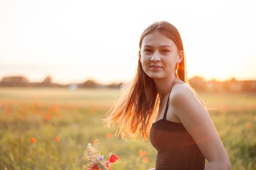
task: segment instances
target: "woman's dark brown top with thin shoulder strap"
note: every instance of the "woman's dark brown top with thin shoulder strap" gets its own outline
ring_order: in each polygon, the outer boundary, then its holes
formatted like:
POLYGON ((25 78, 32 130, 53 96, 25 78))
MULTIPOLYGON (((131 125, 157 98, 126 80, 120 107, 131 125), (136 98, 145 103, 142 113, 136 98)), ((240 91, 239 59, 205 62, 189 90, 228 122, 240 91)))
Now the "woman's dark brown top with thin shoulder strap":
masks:
MULTIPOLYGON (((170 96, 171 91, 169 92, 170 96)), ((206 158, 182 123, 166 120, 169 96, 164 118, 152 124, 149 138, 157 150, 156 170, 201 170, 206 158)))

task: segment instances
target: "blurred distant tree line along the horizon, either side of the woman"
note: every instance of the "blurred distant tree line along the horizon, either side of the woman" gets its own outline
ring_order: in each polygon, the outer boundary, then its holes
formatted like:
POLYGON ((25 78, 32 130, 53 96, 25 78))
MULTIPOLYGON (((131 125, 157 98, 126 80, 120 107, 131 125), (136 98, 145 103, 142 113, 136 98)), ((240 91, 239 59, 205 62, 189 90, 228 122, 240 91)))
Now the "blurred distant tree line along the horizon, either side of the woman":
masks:
MULTIPOLYGON (((247 81, 238 81, 235 78, 232 78, 228 81, 216 81, 210 80, 205 81, 202 77, 193 77, 189 79, 189 84, 196 91, 246 91, 246 92, 256 92, 256 80, 247 80, 247 81)), ((17 76, 17 77, 3 77, 0 81, 0 87, 68 87, 70 89, 77 88, 116 88, 120 89, 123 83, 113 83, 102 85, 97 83, 94 80, 87 80, 80 84, 55 84, 52 82, 51 77, 46 77, 41 82, 29 82, 26 77, 17 76)))

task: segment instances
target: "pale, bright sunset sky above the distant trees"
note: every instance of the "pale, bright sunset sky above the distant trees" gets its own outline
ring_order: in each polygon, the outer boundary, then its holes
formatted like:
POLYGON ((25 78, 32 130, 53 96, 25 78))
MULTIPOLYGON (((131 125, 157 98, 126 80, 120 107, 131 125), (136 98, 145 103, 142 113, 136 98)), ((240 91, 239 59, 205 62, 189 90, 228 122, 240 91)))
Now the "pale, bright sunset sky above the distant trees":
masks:
POLYGON ((0 0, 0 79, 131 81, 155 21, 179 30, 188 78, 256 79, 256 1, 0 0))

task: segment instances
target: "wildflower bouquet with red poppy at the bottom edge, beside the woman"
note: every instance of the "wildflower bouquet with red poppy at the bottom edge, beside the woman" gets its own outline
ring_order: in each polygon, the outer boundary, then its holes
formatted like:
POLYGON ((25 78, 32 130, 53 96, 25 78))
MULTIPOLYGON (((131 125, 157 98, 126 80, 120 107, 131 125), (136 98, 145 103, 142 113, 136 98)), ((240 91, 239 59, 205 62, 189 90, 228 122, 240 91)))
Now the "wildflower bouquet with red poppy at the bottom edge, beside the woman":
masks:
POLYGON ((110 164, 116 162, 119 158, 115 154, 110 154, 107 162, 103 159, 104 155, 97 151, 97 146, 99 145, 98 140, 94 140, 92 144, 87 144, 87 149, 83 159, 90 161, 90 164, 83 165, 82 170, 111 170, 110 164), (88 168, 89 167, 89 168, 88 168))

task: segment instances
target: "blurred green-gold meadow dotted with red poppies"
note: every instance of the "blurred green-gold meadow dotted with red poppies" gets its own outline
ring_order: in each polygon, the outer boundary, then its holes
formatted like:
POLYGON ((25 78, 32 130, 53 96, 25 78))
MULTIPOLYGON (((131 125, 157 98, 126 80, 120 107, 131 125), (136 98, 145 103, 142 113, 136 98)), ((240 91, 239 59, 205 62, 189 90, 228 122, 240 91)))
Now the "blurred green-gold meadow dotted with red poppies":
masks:
MULTIPOLYGON (((1 88, 0 169, 82 169, 88 142, 119 160, 114 170, 154 167, 150 142, 122 140, 102 123, 114 89, 1 88), (31 137, 36 141, 31 142, 31 137)), ((256 94, 199 93, 233 169, 256 169, 256 94)))

